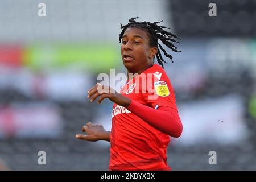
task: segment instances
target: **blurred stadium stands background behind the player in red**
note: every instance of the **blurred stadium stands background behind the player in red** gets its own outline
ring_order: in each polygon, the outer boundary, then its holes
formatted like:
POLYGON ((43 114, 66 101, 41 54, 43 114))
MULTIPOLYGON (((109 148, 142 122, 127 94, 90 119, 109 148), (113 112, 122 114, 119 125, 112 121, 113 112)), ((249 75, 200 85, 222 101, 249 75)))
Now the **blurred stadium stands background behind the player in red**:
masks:
POLYGON ((89 121, 110 130, 112 103, 89 104, 86 92, 98 73, 125 73, 119 26, 134 16, 164 19, 182 39, 182 53, 171 52, 175 63, 166 65, 184 125, 171 139, 168 164, 256 169, 255 0, 1 1, 0 166, 108 170, 109 143, 75 134, 89 121), (40 2, 46 17, 38 16, 40 2), (211 2, 217 17, 208 16, 211 2), (209 151, 217 152, 217 165, 208 163, 209 151))

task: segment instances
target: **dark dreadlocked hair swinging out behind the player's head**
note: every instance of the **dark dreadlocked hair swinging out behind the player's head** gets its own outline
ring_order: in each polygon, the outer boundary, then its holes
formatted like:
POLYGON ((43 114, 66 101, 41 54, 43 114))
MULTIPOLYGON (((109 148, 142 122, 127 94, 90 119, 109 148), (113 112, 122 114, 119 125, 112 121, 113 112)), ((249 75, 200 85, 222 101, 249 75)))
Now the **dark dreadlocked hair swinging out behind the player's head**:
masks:
MULTIPOLYGON (((167 63, 166 61, 164 61, 160 50, 164 53, 166 57, 171 59, 172 63, 174 63, 174 61, 172 60, 172 56, 169 55, 166 52, 166 50, 162 47, 162 45, 158 43, 158 40, 161 40, 161 42, 164 45, 166 45, 168 48, 172 49, 172 51, 181 52, 177 50, 177 47, 174 46, 174 44, 172 44, 172 42, 180 43, 180 42, 177 42, 177 40, 175 40, 175 38, 176 39, 180 39, 180 38, 175 34, 172 34, 171 32, 164 30, 164 28, 167 28, 167 27, 158 26, 158 23, 163 22, 163 20, 160 22, 154 22, 154 23, 136 22, 134 19, 137 19, 137 18, 139 17, 129 19, 129 23, 124 26, 122 26, 122 23, 121 23, 122 32, 121 34, 119 34, 119 42, 121 43, 123 34, 125 33, 127 28, 130 28, 130 27, 143 28, 144 30, 146 30, 148 34, 150 47, 158 48, 158 52, 156 53, 156 59, 158 60, 158 63, 162 65, 162 67, 163 67, 163 63, 167 63)), ((170 28, 167 28, 167 29, 170 29, 170 28)), ((154 60, 155 60, 155 57, 154 57, 154 60)))

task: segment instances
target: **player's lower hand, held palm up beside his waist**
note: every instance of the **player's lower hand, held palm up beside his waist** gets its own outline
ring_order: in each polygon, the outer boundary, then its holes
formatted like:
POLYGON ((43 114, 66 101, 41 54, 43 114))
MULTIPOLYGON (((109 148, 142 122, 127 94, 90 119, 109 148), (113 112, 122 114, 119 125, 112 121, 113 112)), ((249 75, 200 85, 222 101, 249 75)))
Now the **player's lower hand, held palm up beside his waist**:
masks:
POLYGON ((110 132, 106 131, 102 125, 88 122, 85 126, 82 126, 82 132, 86 132, 87 135, 76 135, 77 139, 90 142, 96 142, 98 140, 110 141, 110 132))

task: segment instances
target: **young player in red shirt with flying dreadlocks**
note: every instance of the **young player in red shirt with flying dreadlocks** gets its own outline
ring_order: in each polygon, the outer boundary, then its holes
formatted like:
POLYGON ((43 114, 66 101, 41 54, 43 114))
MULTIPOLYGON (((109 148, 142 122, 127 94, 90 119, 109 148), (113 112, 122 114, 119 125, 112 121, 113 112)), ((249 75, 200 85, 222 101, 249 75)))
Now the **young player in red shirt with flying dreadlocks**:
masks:
POLYGON ((161 49, 172 59, 158 40, 177 52, 171 43, 176 42, 177 36, 158 26, 159 22, 134 19, 126 26, 121 24, 119 41, 122 40, 121 54, 127 73, 137 75, 127 80, 121 93, 98 83, 88 91, 91 102, 97 97, 100 97, 98 104, 105 98, 114 102, 112 130, 105 131, 101 125, 89 122, 82 127, 87 135, 76 135, 76 138, 110 141, 110 170, 170 170, 169 136, 180 137, 183 126, 171 82, 164 69, 154 64, 154 58, 163 66, 161 49))

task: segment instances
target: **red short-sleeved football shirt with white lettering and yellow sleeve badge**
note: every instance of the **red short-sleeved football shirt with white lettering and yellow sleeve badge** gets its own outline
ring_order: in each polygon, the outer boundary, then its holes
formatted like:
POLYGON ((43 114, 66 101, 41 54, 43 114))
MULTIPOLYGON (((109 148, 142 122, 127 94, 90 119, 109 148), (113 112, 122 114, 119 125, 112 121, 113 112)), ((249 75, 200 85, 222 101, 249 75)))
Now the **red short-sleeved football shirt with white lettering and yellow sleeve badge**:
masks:
MULTIPOLYGON (((130 80, 121 94, 148 107, 177 110, 171 82, 157 64, 130 80)), ((110 170, 170 170, 167 164, 169 142, 169 135, 148 125, 125 107, 114 104, 110 170)))

